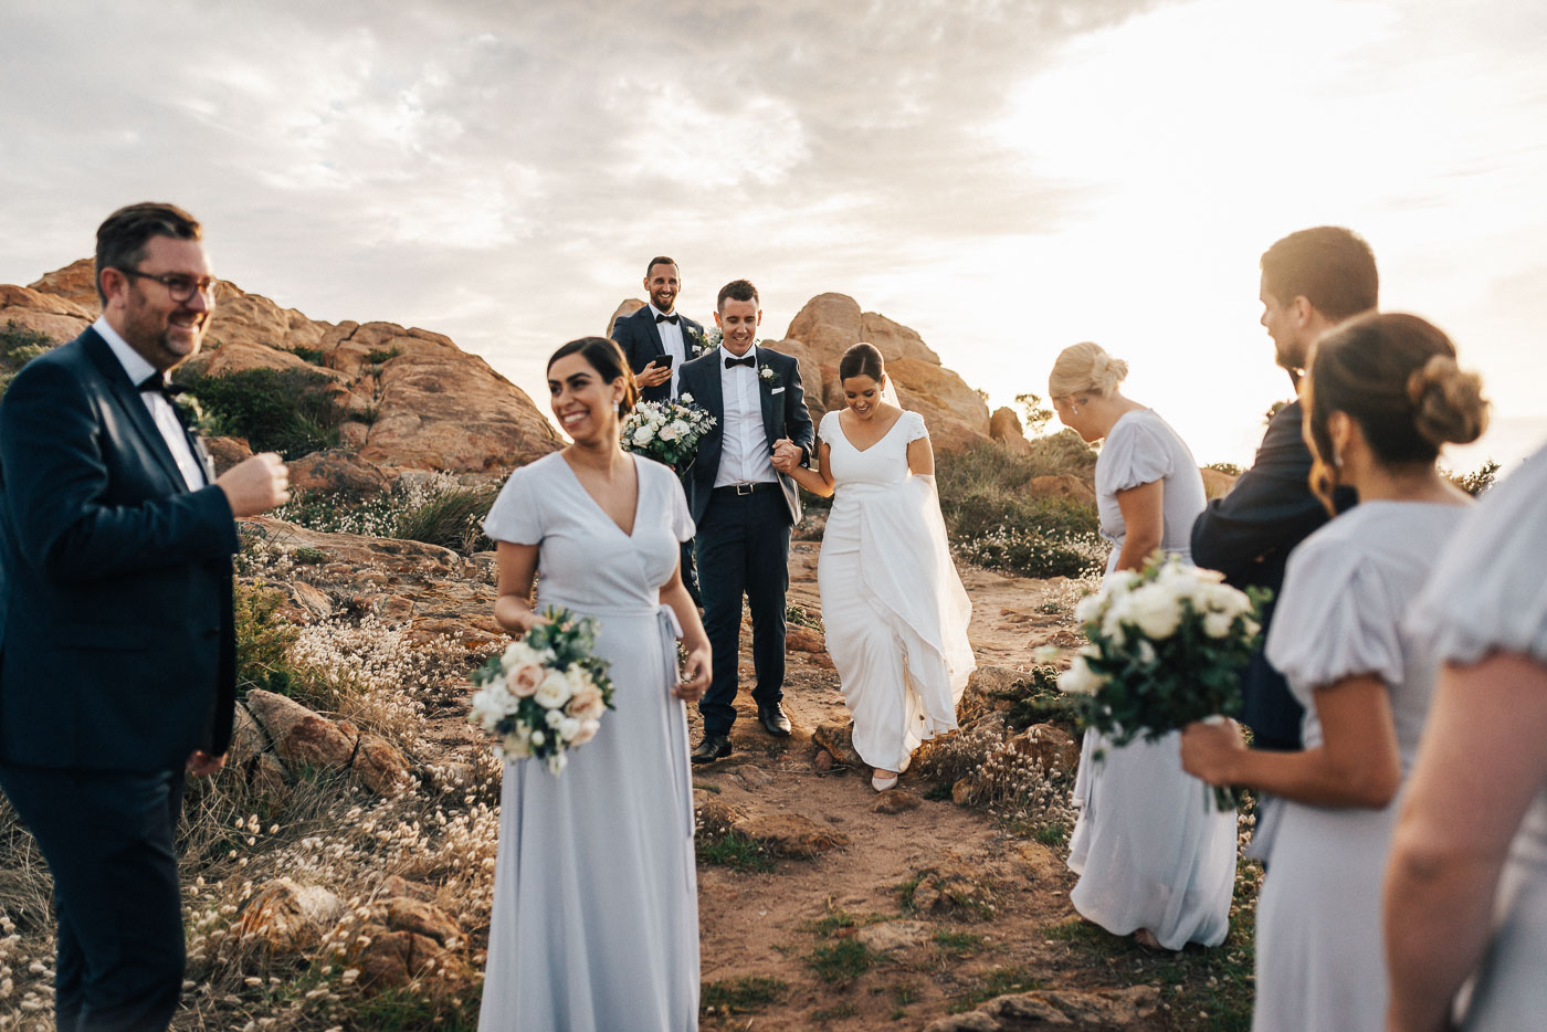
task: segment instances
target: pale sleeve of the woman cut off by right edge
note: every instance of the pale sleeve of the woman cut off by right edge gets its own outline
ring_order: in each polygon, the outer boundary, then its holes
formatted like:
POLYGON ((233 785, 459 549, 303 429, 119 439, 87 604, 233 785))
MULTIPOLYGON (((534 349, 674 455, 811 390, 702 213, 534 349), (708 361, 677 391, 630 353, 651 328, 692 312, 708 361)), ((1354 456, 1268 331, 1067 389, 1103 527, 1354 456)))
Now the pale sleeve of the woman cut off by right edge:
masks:
POLYGON ((1491 651, 1547 664, 1547 447, 1468 512, 1408 611, 1411 634, 1442 661, 1491 651))

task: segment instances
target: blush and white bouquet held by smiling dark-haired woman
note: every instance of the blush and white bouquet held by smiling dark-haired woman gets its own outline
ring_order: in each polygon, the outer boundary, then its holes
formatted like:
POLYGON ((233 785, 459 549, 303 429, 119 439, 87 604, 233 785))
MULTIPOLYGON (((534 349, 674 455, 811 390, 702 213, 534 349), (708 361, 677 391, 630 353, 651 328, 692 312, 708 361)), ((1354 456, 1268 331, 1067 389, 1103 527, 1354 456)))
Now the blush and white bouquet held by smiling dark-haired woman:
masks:
POLYGON ((478 692, 467 719, 498 741, 504 760, 537 757, 560 774, 568 750, 583 746, 613 709, 608 662, 596 654, 596 620, 549 607, 538 624, 473 673, 478 692))

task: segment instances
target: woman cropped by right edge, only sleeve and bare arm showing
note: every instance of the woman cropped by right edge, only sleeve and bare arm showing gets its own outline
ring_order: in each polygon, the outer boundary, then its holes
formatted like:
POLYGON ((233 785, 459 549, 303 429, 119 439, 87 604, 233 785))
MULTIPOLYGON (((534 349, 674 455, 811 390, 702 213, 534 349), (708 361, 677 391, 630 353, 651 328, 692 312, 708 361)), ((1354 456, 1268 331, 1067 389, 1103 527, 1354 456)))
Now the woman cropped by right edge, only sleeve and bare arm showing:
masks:
POLYGON ((1386 868, 1391 1029, 1547 1023, 1547 447, 1457 529, 1408 633, 1445 664, 1386 868))

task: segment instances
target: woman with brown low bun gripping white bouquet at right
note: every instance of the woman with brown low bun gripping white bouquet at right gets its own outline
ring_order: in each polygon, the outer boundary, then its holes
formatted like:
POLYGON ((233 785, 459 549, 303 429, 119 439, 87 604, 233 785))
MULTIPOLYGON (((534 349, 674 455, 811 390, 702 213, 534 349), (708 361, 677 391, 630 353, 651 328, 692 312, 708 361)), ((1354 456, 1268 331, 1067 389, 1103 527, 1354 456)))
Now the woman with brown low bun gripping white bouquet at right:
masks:
POLYGON ((1318 497, 1358 492, 1289 555, 1267 658, 1306 707, 1304 749, 1247 750, 1193 724, 1182 763, 1281 800, 1258 900, 1255 1032, 1381 1032, 1380 885, 1398 795, 1434 687, 1433 639, 1402 619, 1467 514, 1436 467, 1482 433, 1476 376, 1403 314, 1355 317, 1315 345, 1303 385, 1318 497))

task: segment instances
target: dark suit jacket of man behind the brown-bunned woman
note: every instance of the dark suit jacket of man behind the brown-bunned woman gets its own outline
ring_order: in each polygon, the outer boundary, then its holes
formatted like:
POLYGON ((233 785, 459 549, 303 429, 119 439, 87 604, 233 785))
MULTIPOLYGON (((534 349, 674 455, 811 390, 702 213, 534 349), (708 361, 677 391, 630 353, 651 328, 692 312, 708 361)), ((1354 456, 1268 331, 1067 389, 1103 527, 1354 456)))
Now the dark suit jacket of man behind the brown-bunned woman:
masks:
MULTIPOLYGON (((1310 449, 1301 436, 1301 404, 1284 405, 1269 422, 1252 469, 1241 473, 1224 498, 1214 498, 1193 523, 1193 562, 1225 574, 1236 588, 1270 588, 1275 599, 1262 616, 1262 641, 1273 617, 1273 602, 1284 586, 1289 552, 1327 521, 1327 511, 1310 494, 1310 449)), ((1354 503, 1352 492, 1335 498, 1340 509, 1354 503)), ((1267 749, 1299 749, 1304 707, 1289 692, 1284 675, 1273 668, 1262 647, 1252 656, 1241 682, 1245 696, 1242 719, 1256 744, 1267 749)))

